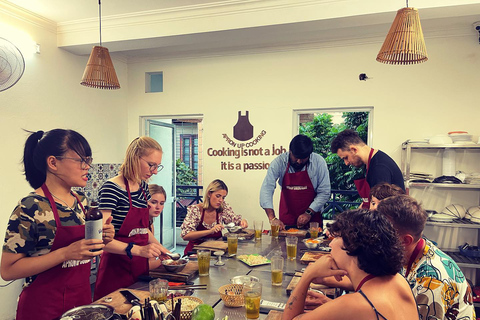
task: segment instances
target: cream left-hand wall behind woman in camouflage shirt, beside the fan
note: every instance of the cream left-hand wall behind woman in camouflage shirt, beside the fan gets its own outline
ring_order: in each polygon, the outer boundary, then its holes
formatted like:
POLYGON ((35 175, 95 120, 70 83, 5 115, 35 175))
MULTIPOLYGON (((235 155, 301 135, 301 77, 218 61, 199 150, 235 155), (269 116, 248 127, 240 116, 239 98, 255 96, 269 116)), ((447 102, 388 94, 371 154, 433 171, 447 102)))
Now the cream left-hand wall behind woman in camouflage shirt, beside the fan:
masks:
MULTIPOLYGON (((121 162, 127 145, 127 66, 114 61, 121 90, 107 91, 80 85, 88 57, 72 55, 56 46, 47 23, 35 26, 0 12, 0 36, 15 42, 7 27, 28 33, 41 45, 41 54, 25 56, 20 81, 0 92, 0 232, 22 196, 31 191, 20 165, 27 137, 22 129, 69 128, 89 141, 96 162, 121 162), (3 25, 5 24, 5 25, 3 25)), ((0 284, 5 284, 0 280, 0 284)), ((0 288, 0 319, 13 319, 22 281, 0 288)))

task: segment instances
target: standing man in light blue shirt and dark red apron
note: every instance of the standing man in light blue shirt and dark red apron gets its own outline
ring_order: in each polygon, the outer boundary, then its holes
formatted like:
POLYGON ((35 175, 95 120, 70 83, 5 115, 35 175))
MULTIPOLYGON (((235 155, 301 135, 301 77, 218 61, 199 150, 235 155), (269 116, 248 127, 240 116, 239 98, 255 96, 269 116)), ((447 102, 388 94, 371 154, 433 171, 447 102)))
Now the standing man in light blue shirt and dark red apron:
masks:
POLYGON ((295 136, 290 142, 289 152, 275 158, 268 168, 260 190, 260 206, 270 223, 277 219, 272 200, 277 181, 282 187, 280 228, 308 228, 309 222, 319 222, 322 227, 321 211, 330 198, 330 177, 325 160, 313 153, 310 138, 295 136))

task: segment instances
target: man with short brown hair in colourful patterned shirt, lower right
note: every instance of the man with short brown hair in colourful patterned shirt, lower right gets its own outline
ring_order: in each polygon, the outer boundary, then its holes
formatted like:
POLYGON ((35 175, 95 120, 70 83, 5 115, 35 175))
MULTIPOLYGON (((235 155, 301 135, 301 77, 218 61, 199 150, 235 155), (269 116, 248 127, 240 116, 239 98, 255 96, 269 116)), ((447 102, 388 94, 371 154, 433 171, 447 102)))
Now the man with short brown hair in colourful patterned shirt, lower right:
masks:
POLYGON ((421 319, 475 320, 472 289, 458 265, 423 237, 427 214, 412 197, 382 200, 380 214, 393 223, 405 246, 401 274, 412 288, 421 319))

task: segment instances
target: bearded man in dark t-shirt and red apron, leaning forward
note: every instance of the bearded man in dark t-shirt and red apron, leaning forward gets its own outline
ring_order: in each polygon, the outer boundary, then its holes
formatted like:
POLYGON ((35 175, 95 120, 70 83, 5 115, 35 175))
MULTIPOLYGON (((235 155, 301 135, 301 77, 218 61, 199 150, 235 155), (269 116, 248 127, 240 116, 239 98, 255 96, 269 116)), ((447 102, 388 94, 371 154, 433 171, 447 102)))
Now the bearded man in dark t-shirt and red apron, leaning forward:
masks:
POLYGON ((366 166, 365 178, 354 180, 358 194, 362 198, 362 208, 370 208, 370 188, 379 183, 395 184, 405 190, 403 174, 395 161, 386 153, 367 146, 356 131, 347 129, 340 132, 332 141, 331 151, 347 166, 356 168, 366 166))

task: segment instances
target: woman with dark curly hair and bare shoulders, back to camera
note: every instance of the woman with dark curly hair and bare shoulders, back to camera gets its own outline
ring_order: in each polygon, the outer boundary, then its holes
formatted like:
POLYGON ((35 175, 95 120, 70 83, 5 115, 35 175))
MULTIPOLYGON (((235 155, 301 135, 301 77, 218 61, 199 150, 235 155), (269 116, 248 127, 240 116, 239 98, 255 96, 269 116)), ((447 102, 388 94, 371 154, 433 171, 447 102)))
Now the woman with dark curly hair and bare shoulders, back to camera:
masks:
POLYGON ((305 270, 288 299, 283 319, 418 319, 417 305, 402 267, 403 248, 387 218, 368 210, 338 215, 330 225, 335 237, 331 254, 305 270), (315 278, 346 276, 355 292, 303 313, 310 283, 315 278))

